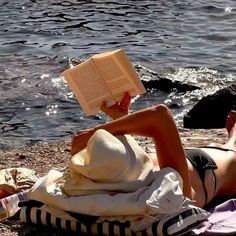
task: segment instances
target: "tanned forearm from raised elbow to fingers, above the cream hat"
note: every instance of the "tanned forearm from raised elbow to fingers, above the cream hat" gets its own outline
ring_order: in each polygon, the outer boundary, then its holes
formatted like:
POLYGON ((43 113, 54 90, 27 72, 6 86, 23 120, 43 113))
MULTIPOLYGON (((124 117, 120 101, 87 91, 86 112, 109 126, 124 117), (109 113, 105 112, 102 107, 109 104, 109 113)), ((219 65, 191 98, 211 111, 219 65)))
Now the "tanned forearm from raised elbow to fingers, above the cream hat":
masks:
MULTIPOLYGON (((131 134, 152 137, 154 139, 158 137, 162 139, 162 136, 165 136, 165 132, 174 131, 175 135, 178 135, 175 122, 168 108, 158 105, 133 112, 108 123, 98 125, 95 128, 80 131, 74 137, 72 145, 75 147, 77 143, 80 145, 83 141, 85 147, 88 139, 98 129, 105 129, 113 135, 131 134)), ((80 148, 82 146, 80 145, 80 148)))

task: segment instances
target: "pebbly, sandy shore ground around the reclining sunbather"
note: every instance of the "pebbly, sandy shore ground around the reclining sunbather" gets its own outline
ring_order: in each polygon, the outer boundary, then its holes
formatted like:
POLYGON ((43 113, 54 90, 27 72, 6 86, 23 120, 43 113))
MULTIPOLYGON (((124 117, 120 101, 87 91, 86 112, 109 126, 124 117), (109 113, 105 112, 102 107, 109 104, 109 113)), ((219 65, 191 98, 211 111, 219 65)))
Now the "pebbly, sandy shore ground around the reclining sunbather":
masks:
MULTIPOLYGON (((189 130, 181 129, 184 146, 201 146, 209 143, 222 144, 227 140, 225 129, 189 130)), ((149 139, 137 137, 143 147, 154 149, 149 139)), ((45 175, 52 167, 65 167, 70 158, 70 142, 39 143, 11 151, 0 151, 0 168, 27 167, 36 171, 38 176, 45 175)), ((16 220, 0 222, 1 236, 56 236, 65 232, 49 230, 45 227, 28 225, 16 220)), ((70 234, 71 235, 71 234, 70 234)))

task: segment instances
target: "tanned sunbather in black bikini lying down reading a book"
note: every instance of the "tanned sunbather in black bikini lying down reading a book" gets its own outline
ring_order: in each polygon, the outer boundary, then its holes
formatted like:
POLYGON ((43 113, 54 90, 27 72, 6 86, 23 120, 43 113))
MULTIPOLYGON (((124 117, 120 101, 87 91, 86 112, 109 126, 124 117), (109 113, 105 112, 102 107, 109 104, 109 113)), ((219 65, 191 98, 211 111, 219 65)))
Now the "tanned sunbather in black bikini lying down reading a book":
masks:
POLYGON ((233 197, 236 194, 236 112, 227 118, 229 140, 221 146, 204 146, 184 149, 171 111, 157 105, 129 114, 131 98, 128 94, 120 103, 102 111, 113 121, 79 131, 72 141, 71 154, 84 149, 91 136, 99 129, 113 135, 140 135, 151 137, 156 153, 148 155, 155 168, 171 167, 183 179, 183 194, 194 205, 205 207, 216 197, 233 197))

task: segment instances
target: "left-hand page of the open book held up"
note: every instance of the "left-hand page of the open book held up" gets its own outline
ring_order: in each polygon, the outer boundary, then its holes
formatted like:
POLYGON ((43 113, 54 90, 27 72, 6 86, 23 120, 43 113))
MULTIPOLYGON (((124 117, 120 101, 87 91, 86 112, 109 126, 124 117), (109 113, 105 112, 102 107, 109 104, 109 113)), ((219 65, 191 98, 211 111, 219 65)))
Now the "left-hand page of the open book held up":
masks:
POLYGON ((86 115, 98 112, 103 101, 109 105, 114 104, 106 83, 91 59, 66 70, 63 76, 86 115))

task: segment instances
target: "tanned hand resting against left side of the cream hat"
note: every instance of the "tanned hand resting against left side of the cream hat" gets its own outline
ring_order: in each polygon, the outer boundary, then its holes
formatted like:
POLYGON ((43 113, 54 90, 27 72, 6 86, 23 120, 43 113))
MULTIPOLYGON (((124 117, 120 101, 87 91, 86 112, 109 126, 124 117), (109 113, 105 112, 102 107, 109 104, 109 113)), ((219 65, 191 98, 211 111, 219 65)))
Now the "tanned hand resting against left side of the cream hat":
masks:
POLYGON ((93 135, 93 133, 93 129, 79 131, 72 139, 70 154, 74 155, 84 149, 87 146, 87 142, 93 135))

